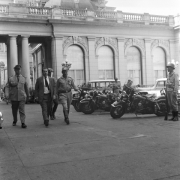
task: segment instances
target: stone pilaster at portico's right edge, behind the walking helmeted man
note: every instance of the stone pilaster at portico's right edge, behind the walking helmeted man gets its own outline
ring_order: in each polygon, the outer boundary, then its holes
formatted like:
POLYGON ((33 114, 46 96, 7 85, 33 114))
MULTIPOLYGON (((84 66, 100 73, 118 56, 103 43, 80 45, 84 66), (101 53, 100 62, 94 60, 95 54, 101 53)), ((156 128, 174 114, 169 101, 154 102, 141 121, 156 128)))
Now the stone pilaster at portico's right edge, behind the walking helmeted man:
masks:
POLYGON ((52 37, 51 40, 51 55, 52 55, 52 68, 54 70, 54 77, 61 77, 63 59, 63 37, 52 37))

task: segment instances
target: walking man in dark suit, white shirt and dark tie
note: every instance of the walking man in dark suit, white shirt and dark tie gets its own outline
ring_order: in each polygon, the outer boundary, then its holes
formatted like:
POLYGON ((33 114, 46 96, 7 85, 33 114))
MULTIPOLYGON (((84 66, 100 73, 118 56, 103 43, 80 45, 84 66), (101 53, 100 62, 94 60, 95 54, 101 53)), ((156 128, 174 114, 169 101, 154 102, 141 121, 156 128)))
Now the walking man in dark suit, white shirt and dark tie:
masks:
POLYGON ((43 76, 36 80, 35 97, 38 99, 46 127, 49 125, 49 116, 52 101, 56 98, 56 83, 54 78, 48 77, 48 69, 43 69, 43 76))

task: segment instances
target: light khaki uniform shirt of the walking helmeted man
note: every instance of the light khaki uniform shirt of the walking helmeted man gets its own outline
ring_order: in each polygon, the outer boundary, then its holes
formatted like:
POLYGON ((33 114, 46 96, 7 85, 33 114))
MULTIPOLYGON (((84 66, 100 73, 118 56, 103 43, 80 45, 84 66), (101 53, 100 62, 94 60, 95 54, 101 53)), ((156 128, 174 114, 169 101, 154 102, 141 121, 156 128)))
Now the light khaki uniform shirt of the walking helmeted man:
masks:
POLYGON ((74 80, 71 77, 64 78, 63 76, 61 76, 57 80, 57 93, 59 93, 60 91, 69 92, 71 91, 71 89, 77 89, 74 84, 74 80))

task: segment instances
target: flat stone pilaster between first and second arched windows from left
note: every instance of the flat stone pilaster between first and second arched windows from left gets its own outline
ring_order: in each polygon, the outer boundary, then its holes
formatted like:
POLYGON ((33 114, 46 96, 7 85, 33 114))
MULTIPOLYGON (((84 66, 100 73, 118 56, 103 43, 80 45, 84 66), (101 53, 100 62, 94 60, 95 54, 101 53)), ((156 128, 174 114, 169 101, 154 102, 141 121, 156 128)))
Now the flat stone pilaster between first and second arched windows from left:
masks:
POLYGON ((89 80, 99 79, 98 77, 98 57, 95 53, 95 37, 88 37, 89 47, 89 80))

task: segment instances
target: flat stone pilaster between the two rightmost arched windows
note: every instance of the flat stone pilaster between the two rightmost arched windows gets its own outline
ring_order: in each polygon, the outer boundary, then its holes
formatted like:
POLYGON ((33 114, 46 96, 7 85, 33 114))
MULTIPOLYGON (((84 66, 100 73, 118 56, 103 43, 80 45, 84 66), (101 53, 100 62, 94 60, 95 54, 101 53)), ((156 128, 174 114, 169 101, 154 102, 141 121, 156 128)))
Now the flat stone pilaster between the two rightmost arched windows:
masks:
POLYGON ((153 72, 153 61, 151 59, 151 39, 145 39, 145 50, 146 50, 146 80, 143 81, 146 82, 146 85, 152 85, 154 84, 154 72, 153 72))

